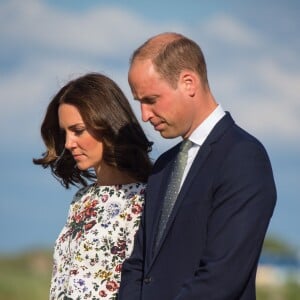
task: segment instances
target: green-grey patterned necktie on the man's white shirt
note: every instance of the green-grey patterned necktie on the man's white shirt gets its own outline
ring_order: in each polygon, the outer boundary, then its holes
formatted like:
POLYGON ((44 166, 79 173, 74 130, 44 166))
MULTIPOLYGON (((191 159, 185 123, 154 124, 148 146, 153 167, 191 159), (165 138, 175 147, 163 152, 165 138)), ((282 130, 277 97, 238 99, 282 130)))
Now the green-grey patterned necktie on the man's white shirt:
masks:
POLYGON ((187 163, 188 151, 192 147, 193 142, 186 139, 180 145, 180 150, 173 164, 173 170, 170 175, 169 183, 164 197, 163 208, 159 220, 158 232, 156 237, 156 247, 163 235, 168 219, 171 215, 173 206, 176 202, 182 176, 187 163))

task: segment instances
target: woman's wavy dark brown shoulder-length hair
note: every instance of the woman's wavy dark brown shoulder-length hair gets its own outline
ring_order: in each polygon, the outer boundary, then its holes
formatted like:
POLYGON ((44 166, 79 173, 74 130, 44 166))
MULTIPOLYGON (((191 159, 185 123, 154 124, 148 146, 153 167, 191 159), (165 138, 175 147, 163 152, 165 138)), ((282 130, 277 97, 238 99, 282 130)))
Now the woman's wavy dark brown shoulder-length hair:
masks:
POLYGON ((86 186, 96 178, 92 170, 79 170, 71 153, 65 149, 58 108, 62 103, 74 105, 89 133, 103 142, 103 160, 126 172, 137 181, 146 182, 151 171, 150 142, 140 126, 126 96, 110 78, 89 73, 67 83, 49 103, 41 126, 46 151, 33 163, 50 167, 65 188, 70 184, 86 186))

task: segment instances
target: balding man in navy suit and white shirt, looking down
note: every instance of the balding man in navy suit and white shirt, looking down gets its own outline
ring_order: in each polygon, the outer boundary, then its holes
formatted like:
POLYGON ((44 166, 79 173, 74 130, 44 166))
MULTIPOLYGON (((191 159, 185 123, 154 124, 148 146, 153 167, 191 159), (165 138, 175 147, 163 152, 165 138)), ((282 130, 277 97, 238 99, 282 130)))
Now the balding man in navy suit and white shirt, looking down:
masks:
POLYGON ((143 121, 192 147, 167 213, 180 145, 154 165, 118 299, 255 299, 258 259, 276 202, 263 145, 215 101, 200 47, 180 34, 159 34, 139 47, 129 84, 143 121))

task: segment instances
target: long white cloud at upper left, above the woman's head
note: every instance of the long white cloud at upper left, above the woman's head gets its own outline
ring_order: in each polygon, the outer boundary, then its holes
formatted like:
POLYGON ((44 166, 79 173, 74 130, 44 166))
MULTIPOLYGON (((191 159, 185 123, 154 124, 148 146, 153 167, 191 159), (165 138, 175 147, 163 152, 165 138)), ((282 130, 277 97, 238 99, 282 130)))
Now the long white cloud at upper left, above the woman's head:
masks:
POLYGON ((2 38, 23 43, 25 49, 37 47, 40 51, 59 54, 68 51, 115 57, 124 51, 131 52, 131 44, 136 39, 160 28, 113 6, 99 5, 84 12, 65 12, 38 0, 12 0, 0 8, 2 38))

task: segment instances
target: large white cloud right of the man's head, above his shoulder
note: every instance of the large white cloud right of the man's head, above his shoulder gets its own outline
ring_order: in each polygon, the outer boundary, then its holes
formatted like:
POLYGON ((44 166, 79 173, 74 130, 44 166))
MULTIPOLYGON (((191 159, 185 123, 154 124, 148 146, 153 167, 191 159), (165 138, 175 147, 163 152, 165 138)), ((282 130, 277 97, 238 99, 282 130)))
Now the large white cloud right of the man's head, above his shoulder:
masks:
POLYGON ((263 58, 220 71, 213 82, 217 101, 243 127, 278 142, 300 141, 300 73, 263 58))

